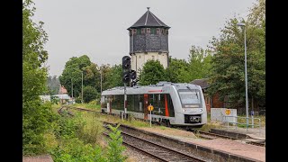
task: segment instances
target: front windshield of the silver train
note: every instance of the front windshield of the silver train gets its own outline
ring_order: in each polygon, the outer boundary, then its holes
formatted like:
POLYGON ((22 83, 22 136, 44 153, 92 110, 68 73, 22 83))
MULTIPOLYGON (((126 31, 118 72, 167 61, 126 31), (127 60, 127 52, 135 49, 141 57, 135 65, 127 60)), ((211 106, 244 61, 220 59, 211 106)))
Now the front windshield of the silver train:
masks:
POLYGON ((179 90, 183 107, 201 107, 201 96, 198 90, 179 90))

